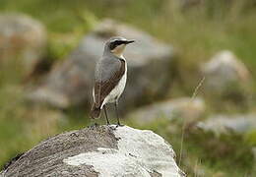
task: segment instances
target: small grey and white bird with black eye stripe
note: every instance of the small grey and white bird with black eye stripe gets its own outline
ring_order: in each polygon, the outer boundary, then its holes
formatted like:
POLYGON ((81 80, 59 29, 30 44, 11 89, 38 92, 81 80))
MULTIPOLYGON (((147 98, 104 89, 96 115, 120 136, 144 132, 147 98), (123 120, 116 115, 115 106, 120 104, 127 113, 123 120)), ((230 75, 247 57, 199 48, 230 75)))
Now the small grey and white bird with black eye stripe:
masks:
POLYGON ((91 108, 91 117, 96 119, 104 109, 106 124, 110 125, 106 104, 114 103, 117 117, 117 126, 121 126, 118 114, 118 99, 125 89, 127 79, 127 63, 123 56, 127 44, 135 40, 128 40, 122 36, 109 38, 103 49, 103 54, 96 62, 95 85, 93 88, 94 103, 91 108))

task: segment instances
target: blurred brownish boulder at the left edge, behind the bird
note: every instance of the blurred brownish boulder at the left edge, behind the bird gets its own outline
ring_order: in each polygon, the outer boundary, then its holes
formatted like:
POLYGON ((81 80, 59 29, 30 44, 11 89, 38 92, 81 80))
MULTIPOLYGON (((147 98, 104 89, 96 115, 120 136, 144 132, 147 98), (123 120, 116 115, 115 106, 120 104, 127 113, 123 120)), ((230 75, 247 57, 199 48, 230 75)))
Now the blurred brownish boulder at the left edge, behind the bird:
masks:
POLYGON ((0 65, 17 60, 28 75, 41 58, 46 45, 42 24, 25 15, 0 15, 0 65))

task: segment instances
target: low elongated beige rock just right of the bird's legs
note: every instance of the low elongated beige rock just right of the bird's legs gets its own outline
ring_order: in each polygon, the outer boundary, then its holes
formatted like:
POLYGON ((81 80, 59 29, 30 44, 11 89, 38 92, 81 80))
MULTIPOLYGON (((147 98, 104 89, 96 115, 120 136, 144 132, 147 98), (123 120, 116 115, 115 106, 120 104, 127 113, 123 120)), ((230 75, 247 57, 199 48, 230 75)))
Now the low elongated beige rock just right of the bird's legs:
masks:
POLYGON ((200 118, 205 110, 206 105, 202 98, 180 97, 144 106, 127 117, 139 125, 150 124, 161 117, 168 120, 184 118, 189 123, 200 118))

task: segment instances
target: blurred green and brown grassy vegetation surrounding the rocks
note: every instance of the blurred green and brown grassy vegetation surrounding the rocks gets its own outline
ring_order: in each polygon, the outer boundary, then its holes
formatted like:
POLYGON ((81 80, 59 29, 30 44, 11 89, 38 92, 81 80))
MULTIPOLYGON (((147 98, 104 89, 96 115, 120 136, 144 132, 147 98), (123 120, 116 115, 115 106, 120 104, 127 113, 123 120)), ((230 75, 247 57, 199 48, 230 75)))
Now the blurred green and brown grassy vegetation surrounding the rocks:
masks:
MULTIPOLYGON (((202 79, 200 65, 217 52, 230 50, 250 73, 250 95, 246 103, 239 99, 232 102, 226 101, 226 97, 215 99, 199 89, 198 96, 204 96, 207 105, 201 120, 212 114, 247 114, 256 110, 255 0, 1 0, 0 12, 26 14, 45 26, 44 72, 65 58, 104 18, 149 32, 177 51, 179 79, 168 98, 192 96, 202 79)), ((24 98, 25 84, 19 62, 1 65, 0 166, 45 138, 91 124, 83 105, 56 113, 47 105, 28 102, 24 98)), ((177 162, 188 176, 256 175, 252 150, 256 146, 255 127, 239 136, 216 136, 195 134, 190 129, 194 122, 183 129, 182 121, 169 122, 164 116, 149 125, 138 125, 129 118, 123 122, 163 136, 173 146, 177 162)))

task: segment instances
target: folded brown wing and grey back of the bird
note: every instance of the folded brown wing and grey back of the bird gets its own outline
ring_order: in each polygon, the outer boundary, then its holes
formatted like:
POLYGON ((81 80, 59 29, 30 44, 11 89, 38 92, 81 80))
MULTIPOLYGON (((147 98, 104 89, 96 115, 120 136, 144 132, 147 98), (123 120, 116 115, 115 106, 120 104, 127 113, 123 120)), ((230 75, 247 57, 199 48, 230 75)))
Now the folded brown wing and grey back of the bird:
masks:
POLYGON ((125 73, 125 61, 114 58, 106 61, 104 65, 97 66, 97 76, 95 81, 95 104, 99 108, 104 98, 115 88, 125 73))

